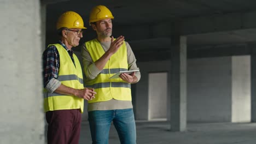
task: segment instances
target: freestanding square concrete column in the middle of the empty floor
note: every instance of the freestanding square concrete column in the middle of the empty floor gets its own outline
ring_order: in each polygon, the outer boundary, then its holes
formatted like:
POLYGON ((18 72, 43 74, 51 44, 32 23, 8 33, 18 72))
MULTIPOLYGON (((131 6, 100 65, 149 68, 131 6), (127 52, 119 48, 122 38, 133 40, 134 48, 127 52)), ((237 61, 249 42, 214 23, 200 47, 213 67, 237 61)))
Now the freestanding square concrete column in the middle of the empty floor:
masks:
POLYGON ((174 35, 168 76, 172 131, 187 129, 187 38, 174 35))

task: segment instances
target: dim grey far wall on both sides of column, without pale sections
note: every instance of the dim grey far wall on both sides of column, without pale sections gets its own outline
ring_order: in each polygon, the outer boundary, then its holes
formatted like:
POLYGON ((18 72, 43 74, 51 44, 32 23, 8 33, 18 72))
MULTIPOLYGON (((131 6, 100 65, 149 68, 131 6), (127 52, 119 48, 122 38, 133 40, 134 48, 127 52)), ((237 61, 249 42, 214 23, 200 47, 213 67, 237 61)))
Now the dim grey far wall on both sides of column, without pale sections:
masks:
MULTIPOLYGON (((142 79, 136 85, 136 119, 148 118, 148 74, 168 71, 170 64, 170 61, 137 64, 142 79)), ((231 57, 188 59, 188 122, 231 122, 230 72, 231 57)), ((170 97, 167 97, 168 119, 169 113, 170 97)))

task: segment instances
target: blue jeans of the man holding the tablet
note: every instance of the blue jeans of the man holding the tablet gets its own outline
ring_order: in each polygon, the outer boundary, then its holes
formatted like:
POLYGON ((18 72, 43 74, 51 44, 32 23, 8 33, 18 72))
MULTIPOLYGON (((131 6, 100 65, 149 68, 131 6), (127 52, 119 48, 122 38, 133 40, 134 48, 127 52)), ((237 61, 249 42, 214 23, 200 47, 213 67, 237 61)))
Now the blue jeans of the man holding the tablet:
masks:
POLYGON ((109 129, 113 121, 120 143, 136 143, 136 126, 132 109, 89 111, 88 120, 92 143, 108 143, 109 129))

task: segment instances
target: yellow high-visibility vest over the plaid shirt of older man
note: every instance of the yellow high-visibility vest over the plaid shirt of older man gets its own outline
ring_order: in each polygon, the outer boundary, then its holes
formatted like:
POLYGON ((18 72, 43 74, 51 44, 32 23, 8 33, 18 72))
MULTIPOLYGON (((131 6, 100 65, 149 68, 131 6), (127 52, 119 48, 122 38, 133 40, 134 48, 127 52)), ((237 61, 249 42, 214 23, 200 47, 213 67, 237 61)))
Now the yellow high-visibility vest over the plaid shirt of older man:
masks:
MULTIPOLYGON (((60 69, 59 80, 62 85, 67 87, 72 87, 75 89, 83 89, 83 74, 80 62, 73 53, 74 63, 70 58, 67 50, 60 44, 53 44, 57 47, 60 54, 60 69)), ((49 45, 50 46, 50 45, 49 45)), ((49 47, 48 46, 48 47, 49 47)), ((84 99, 78 98, 71 95, 63 95, 59 93, 48 93, 44 89, 44 111, 54 111, 54 110, 71 110, 80 109, 83 113, 84 110, 84 99)))

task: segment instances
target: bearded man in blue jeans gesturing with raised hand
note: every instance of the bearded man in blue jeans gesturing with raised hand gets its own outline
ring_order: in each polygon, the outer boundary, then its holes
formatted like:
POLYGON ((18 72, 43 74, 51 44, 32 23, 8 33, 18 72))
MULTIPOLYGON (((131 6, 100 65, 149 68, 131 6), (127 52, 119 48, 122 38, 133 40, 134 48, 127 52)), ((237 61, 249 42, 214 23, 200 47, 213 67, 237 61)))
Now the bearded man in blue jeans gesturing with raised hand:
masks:
POLYGON ((108 143, 109 128, 113 122, 121 143, 136 143, 136 126, 131 101, 131 83, 141 78, 139 72, 119 75, 118 71, 138 70, 136 58, 124 36, 112 35, 110 10, 97 5, 91 10, 89 24, 97 38, 82 47, 85 85, 95 89, 95 99, 88 100, 88 119, 92 143, 108 143))

